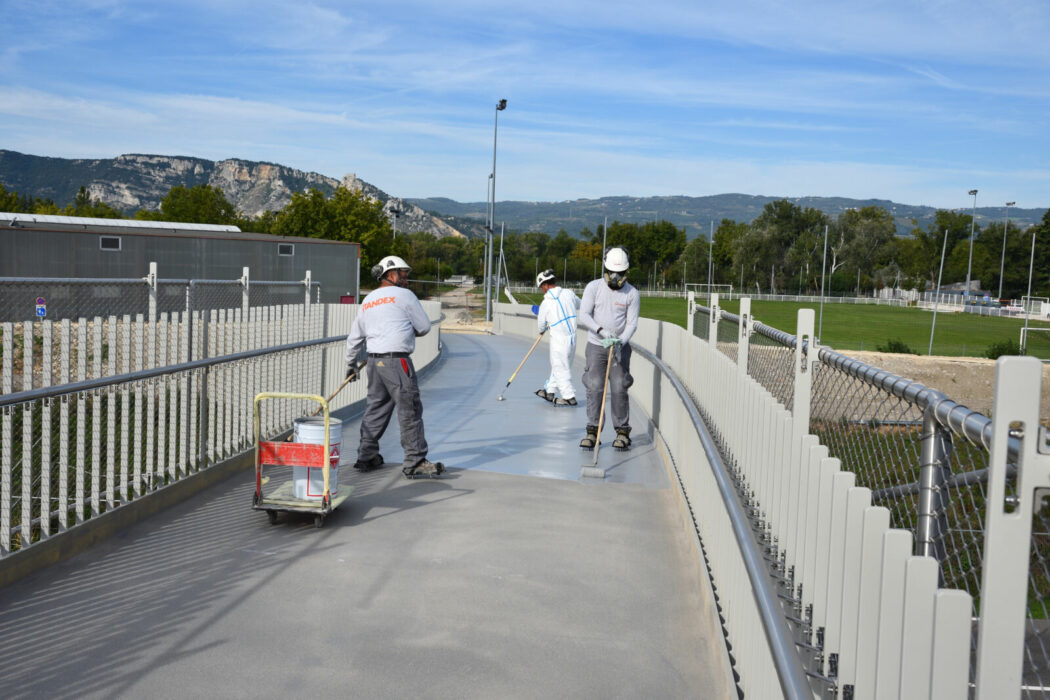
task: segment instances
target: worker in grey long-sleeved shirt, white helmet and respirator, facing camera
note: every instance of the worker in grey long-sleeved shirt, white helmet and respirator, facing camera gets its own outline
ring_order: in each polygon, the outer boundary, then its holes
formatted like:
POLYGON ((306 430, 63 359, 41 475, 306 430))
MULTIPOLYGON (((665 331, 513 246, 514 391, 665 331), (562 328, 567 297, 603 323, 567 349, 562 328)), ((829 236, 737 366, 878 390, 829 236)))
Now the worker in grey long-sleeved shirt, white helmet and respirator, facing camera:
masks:
POLYGON ((580 446, 593 449, 597 444, 606 364, 611 355, 608 402, 612 412, 612 427, 616 430, 612 446, 626 450, 631 446, 627 389, 634 383, 631 377, 630 340, 638 328, 640 303, 638 291, 627 281, 627 271, 630 268, 627 251, 623 248, 610 248, 602 267, 602 279, 595 279, 584 289, 579 313, 579 321, 590 330, 587 334, 587 364, 584 367, 587 436, 580 441, 580 446))

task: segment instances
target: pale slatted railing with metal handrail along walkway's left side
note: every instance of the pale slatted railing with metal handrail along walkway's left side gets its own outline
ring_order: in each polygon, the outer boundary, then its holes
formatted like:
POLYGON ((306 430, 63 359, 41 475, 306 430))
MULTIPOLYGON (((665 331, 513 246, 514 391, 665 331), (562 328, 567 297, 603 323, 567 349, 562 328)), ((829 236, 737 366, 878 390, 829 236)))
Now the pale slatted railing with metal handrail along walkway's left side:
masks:
MULTIPOLYGON (((439 303, 423 304, 440 317, 439 303)), ((0 560, 243 453, 257 393, 329 396, 356 310, 300 301, 162 312, 154 323, 0 323, 0 560)), ((417 341, 418 366, 438 336, 417 341)), ((363 396, 363 382, 350 385, 332 408, 363 396)), ((265 433, 312 407, 300 404, 268 411, 265 433)))

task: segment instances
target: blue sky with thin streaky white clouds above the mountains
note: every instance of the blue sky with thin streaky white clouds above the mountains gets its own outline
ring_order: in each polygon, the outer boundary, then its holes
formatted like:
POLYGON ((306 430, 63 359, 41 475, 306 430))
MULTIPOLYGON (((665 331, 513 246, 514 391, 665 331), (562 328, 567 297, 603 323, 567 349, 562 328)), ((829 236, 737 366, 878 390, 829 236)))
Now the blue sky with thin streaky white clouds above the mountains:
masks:
POLYGON ((401 197, 1050 205, 1047 0, 0 0, 0 148, 401 197))

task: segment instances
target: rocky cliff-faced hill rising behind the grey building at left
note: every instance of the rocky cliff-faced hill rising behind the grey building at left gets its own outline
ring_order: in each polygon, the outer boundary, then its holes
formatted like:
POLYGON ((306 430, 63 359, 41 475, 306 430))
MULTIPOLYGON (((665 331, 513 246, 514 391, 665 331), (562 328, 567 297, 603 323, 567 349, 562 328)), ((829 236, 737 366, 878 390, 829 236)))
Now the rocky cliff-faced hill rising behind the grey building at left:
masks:
POLYGON ((392 197, 349 174, 337 181, 274 163, 229 158, 206 161, 180 155, 130 153, 116 158, 55 158, 0 150, 0 185, 7 190, 48 198, 60 207, 74 200, 81 187, 92 199, 133 214, 155 211, 172 187, 217 187, 244 214, 258 216, 284 209, 293 192, 314 188, 331 195, 339 185, 383 203, 388 215, 399 211, 400 231, 426 231, 436 236, 463 235, 419 207, 392 197))

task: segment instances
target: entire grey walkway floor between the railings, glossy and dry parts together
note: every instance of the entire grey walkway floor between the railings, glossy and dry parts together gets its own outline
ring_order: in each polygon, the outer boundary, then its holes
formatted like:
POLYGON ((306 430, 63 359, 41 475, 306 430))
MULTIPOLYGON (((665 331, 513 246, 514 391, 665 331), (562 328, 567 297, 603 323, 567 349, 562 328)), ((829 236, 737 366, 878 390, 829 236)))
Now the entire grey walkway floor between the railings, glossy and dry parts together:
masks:
POLYGON ((529 342, 444 342, 421 380, 444 479, 344 468, 316 530, 271 526, 246 473, 0 590, 0 697, 730 697, 645 418, 581 483, 583 408, 532 395, 545 345, 498 402, 529 342))

